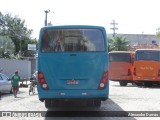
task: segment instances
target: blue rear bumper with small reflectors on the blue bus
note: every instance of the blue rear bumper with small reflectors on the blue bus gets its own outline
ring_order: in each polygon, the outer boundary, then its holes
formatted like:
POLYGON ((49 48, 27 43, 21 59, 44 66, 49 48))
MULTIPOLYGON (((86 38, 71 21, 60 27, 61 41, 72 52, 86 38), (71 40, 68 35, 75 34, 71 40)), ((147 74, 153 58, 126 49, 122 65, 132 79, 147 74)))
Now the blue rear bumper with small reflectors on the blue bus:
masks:
POLYGON ((109 90, 40 90, 38 91, 38 96, 40 101, 44 101, 46 99, 106 100, 109 96, 109 90))

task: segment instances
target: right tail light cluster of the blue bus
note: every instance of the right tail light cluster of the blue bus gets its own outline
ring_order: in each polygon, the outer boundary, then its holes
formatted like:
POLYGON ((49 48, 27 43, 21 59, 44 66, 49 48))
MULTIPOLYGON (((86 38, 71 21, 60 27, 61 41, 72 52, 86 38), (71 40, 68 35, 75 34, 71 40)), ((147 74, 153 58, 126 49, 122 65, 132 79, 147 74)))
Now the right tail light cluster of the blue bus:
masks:
POLYGON ((106 83, 108 81, 108 71, 105 71, 102 75, 101 81, 98 85, 98 89, 104 89, 106 87, 106 83))

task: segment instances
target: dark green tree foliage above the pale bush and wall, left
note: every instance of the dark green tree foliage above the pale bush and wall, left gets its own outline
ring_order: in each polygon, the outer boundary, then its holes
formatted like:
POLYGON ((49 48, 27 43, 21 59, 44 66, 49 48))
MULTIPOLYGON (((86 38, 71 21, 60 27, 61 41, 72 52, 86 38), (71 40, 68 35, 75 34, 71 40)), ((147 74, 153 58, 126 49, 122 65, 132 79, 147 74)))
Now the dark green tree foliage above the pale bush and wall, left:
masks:
POLYGON ((8 36, 14 43, 13 53, 16 58, 25 57, 24 53, 27 51, 28 43, 37 44, 36 39, 31 39, 32 30, 27 29, 25 20, 20 19, 18 16, 12 16, 11 14, 2 14, 0 12, 0 36, 8 36), (20 47, 21 46, 21 47, 20 47), (21 57, 19 51, 21 49, 21 57))

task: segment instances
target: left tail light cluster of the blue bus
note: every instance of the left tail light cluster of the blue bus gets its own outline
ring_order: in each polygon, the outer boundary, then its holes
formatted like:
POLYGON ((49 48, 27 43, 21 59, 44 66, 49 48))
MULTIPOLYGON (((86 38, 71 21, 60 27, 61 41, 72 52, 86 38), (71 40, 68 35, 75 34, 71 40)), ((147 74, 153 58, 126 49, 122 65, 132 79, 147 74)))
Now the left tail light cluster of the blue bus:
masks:
POLYGON ((42 89, 49 90, 43 72, 38 72, 38 80, 42 89))

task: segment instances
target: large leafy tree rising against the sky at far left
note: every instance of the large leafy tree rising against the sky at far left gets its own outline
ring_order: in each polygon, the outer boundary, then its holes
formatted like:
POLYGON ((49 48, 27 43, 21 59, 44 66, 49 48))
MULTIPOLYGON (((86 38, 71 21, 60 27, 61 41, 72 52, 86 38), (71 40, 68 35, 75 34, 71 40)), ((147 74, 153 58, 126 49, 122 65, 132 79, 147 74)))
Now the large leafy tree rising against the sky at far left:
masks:
POLYGON ((28 30, 25 25, 25 20, 21 20, 18 16, 13 16, 9 13, 3 15, 0 13, 0 35, 9 36, 14 45, 15 55, 20 51, 20 42, 23 44, 22 40, 29 40, 32 34, 32 30, 28 30))

